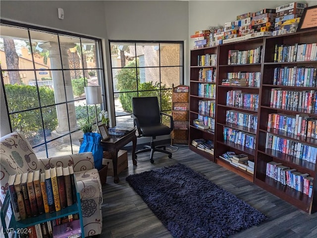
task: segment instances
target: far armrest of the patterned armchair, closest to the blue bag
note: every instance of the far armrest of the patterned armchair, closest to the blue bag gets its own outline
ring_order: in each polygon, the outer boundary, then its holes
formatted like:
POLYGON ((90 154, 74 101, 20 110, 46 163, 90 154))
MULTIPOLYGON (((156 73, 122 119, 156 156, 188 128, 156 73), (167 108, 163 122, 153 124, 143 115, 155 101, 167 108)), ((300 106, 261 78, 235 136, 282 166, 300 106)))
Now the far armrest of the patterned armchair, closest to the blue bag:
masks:
POLYGON ((67 167, 73 166, 74 172, 89 170, 95 168, 94 156, 92 152, 84 152, 79 154, 61 155, 52 158, 39 159, 45 169, 51 167, 61 166, 67 167))

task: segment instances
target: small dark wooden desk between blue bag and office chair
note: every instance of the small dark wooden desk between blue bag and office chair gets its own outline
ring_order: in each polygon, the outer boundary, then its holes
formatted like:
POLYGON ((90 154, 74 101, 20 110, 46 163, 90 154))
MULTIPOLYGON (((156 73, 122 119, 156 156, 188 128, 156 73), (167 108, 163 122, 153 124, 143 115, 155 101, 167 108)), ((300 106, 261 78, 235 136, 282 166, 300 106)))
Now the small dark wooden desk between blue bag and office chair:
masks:
POLYGON ((118 151, 122 149, 124 145, 129 142, 132 142, 132 161, 133 165, 137 165, 137 161, 135 160, 135 148, 137 145, 137 137, 135 135, 135 131, 133 130, 129 132, 127 135, 118 137, 118 136, 110 136, 110 139, 101 141, 101 145, 103 146, 103 150, 108 151, 112 157, 113 163, 113 182, 119 183, 119 178, 117 175, 117 159, 118 159, 118 151))

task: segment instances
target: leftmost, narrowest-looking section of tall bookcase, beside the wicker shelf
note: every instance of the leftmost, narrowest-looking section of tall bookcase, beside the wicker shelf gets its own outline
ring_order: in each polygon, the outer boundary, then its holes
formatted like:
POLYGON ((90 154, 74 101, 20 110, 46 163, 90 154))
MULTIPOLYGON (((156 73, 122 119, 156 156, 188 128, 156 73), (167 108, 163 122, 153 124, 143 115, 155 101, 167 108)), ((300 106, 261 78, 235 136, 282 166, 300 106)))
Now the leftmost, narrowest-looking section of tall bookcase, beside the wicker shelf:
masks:
POLYGON ((218 47, 191 50, 189 147, 214 161, 218 47))

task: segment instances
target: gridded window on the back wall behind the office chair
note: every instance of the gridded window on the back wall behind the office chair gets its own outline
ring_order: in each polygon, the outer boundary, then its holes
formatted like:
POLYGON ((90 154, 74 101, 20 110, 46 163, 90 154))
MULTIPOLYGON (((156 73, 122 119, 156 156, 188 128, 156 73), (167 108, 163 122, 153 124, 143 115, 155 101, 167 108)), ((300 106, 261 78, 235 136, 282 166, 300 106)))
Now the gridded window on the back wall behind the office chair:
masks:
POLYGON ((110 41, 116 125, 133 125, 132 97, 158 96, 171 112, 172 85, 183 84, 183 42, 110 41))

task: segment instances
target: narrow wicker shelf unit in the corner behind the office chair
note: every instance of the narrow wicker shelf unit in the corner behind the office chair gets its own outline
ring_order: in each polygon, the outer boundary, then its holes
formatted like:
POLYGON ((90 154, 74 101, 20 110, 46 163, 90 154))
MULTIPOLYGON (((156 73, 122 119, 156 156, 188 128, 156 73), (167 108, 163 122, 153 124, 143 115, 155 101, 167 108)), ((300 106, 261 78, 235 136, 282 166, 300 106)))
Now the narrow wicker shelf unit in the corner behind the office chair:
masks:
POLYGON ((178 85, 172 92, 172 116, 174 129, 171 136, 171 144, 188 144, 188 111, 189 111, 189 87, 178 85))

